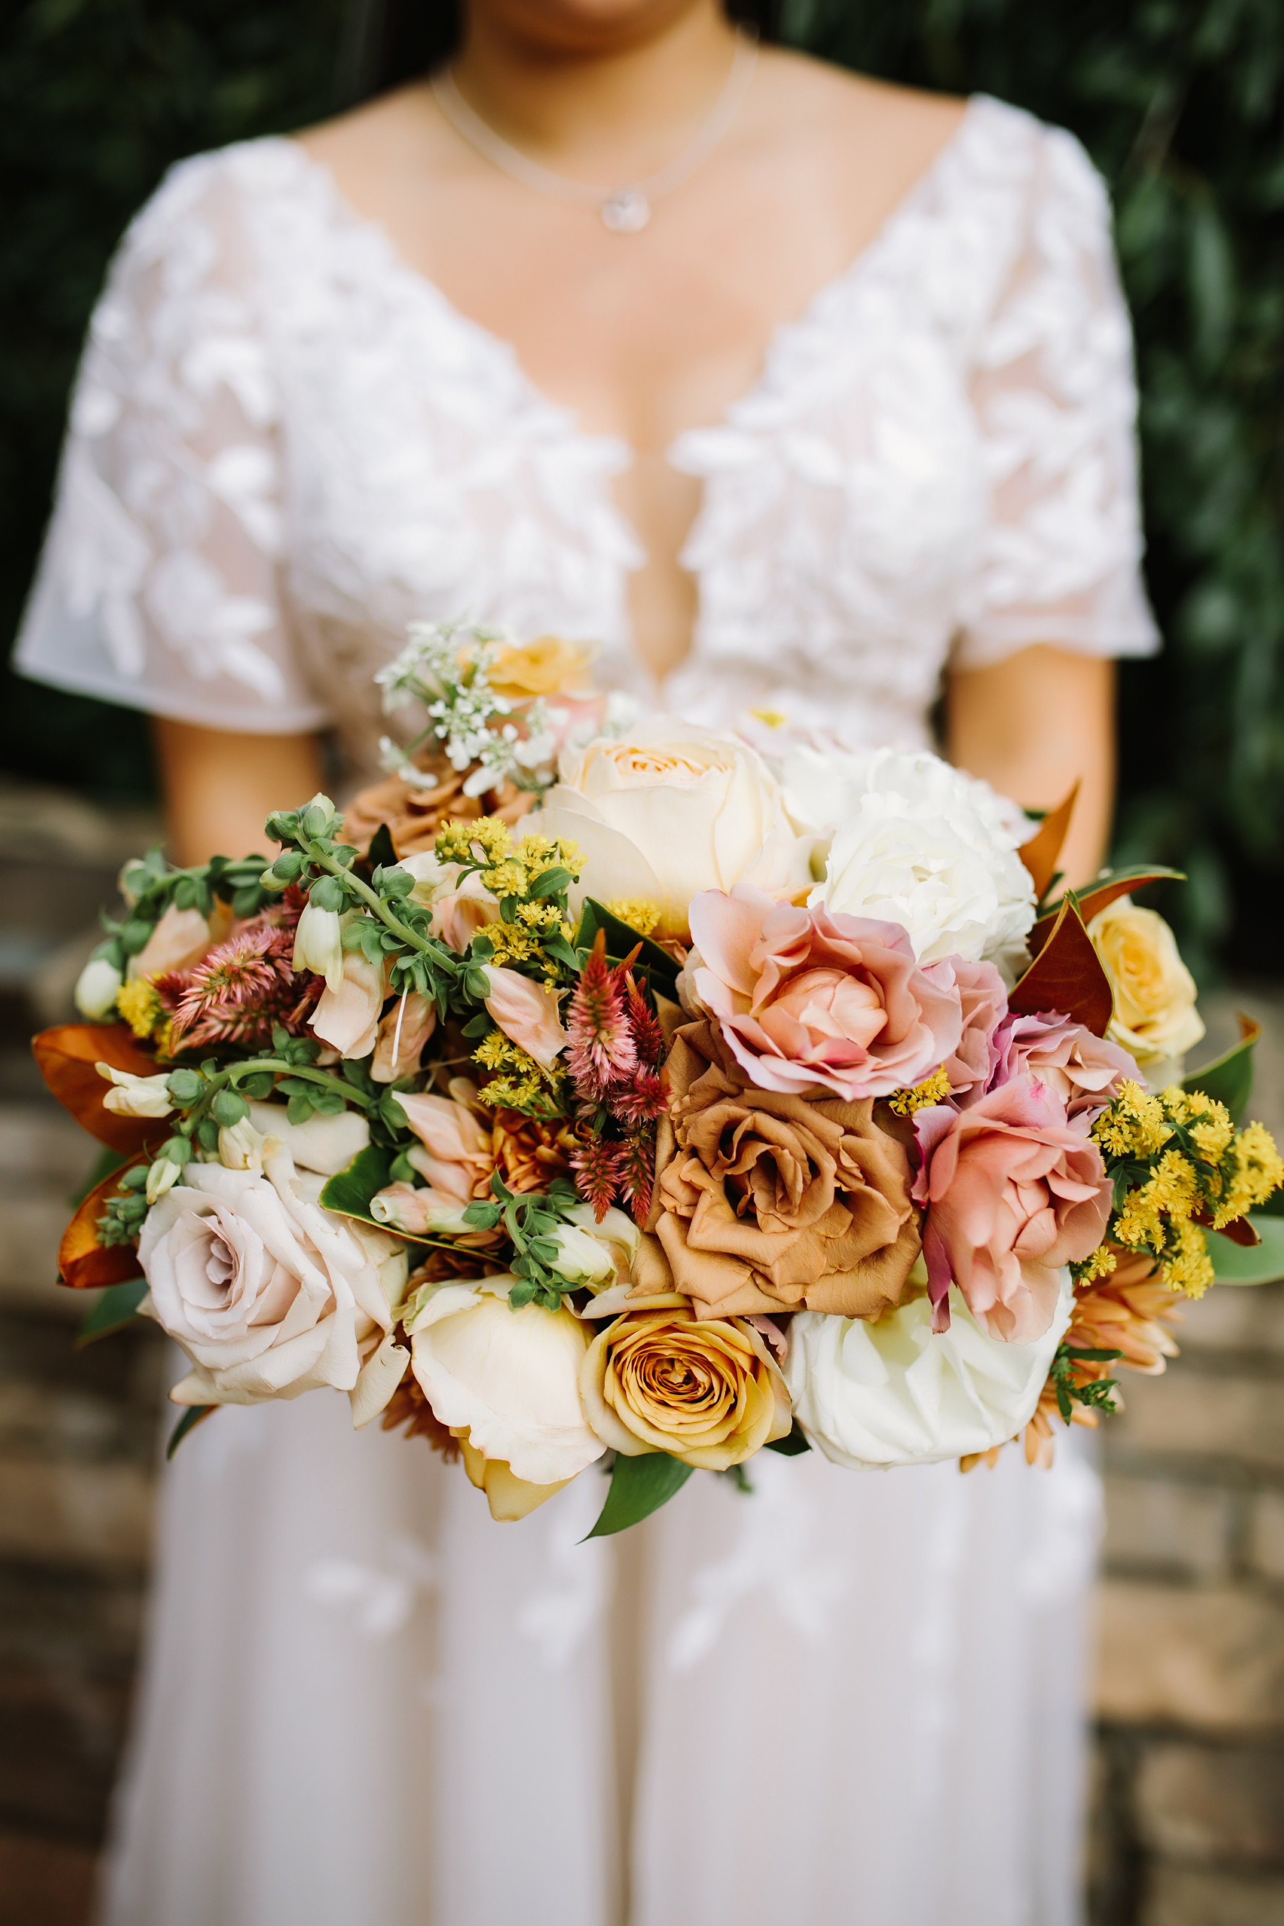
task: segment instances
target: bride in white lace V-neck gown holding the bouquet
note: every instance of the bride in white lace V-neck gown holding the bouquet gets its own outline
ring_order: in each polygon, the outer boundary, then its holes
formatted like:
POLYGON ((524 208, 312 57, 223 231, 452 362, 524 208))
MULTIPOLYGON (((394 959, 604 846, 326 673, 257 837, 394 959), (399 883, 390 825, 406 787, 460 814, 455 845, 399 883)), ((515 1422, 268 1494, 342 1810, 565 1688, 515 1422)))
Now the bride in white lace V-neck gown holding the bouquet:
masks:
MULTIPOLYGON (((943 691, 999 790, 1082 778, 1093 872, 1155 645, 1101 183, 737 12, 468 0, 433 77, 129 229, 19 661, 154 713, 179 861, 370 774, 375 668, 468 614, 853 747, 943 691)), ((581 1545, 585 1479, 499 1527, 347 1400, 219 1412, 164 1473, 104 1918, 1072 1926, 1091 1470, 755 1485, 581 1545)))

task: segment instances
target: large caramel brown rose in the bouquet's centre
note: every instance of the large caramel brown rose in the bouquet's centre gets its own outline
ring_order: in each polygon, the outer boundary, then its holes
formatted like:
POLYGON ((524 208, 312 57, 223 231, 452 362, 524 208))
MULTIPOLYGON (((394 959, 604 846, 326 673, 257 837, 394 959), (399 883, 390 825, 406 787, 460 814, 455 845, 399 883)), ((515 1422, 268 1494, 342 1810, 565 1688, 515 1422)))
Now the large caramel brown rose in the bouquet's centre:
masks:
POLYGON ((716 1023, 668 1059, 649 1229, 701 1315, 880 1317, 918 1256, 909 1154, 874 1100, 755 1090, 716 1023))

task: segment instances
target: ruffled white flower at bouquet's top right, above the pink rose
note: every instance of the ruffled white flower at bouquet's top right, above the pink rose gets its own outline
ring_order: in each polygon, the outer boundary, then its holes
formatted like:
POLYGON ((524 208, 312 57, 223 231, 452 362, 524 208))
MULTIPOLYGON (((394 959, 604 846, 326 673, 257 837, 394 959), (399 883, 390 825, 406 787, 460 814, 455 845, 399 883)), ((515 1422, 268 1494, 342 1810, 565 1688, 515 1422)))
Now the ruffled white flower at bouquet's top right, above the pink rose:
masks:
POLYGON ((1036 901, 1014 803, 926 751, 797 747, 783 788, 795 824, 832 836, 812 903, 901 923, 920 963, 986 959, 1016 978, 1036 901))

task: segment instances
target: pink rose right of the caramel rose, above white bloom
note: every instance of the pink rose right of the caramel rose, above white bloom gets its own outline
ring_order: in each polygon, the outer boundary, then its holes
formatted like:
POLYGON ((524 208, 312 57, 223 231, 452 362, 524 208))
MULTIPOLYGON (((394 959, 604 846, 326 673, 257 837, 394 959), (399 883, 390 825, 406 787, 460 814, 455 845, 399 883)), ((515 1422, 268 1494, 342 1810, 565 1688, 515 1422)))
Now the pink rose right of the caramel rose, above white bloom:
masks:
POLYGON ((1032 1344, 1053 1321, 1059 1269, 1105 1236, 1111 1181, 1101 1152, 1032 1077, 988 1090, 970 1109, 920 1109, 914 1132, 934 1327, 949 1325, 953 1281, 982 1331, 1032 1344))

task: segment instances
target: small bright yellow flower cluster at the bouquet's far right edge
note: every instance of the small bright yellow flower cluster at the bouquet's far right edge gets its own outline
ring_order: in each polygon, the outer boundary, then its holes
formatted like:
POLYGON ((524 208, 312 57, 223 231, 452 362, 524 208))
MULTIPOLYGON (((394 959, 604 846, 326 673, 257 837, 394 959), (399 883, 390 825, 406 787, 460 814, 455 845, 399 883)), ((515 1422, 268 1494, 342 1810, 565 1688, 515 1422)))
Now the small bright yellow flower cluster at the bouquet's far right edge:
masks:
MULTIPOLYGON (((1244 1217, 1284 1181, 1284 1159, 1263 1125, 1236 1131, 1224 1104, 1176 1084, 1147 1096, 1126 1082, 1093 1125, 1093 1138, 1124 1192, 1111 1242, 1159 1260, 1165 1283, 1197 1298, 1213 1283, 1205 1225, 1244 1217)), ((1099 1254, 1097 1254, 1099 1256, 1099 1254)), ((1076 1271, 1082 1283, 1090 1273, 1076 1271)))

